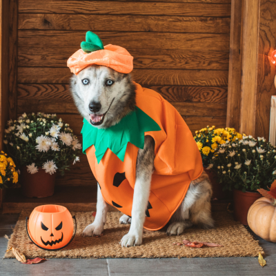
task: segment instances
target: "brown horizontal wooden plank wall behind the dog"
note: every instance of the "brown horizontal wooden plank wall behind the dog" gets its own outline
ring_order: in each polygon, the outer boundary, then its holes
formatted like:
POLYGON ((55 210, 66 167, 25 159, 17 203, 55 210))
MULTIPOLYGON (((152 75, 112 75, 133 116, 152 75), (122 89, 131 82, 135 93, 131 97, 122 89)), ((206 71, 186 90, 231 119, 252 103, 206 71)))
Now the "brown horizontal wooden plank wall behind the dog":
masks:
MULTIPOLYGON (((226 126, 230 0, 19 0, 17 114, 55 112, 79 134, 66 61, 87 30, 134 56, 133 79, 179 110, 195 132, 226 126)), ((86 157, 58 184, 88 185, 86 157)))

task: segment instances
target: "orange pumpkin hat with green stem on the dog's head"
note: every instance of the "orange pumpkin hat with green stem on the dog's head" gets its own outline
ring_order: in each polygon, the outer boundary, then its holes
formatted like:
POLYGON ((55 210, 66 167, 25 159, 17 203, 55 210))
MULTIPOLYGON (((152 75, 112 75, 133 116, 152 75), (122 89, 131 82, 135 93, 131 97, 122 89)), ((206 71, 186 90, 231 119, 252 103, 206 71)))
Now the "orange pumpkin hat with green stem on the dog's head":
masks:
POLYGON ((133 69, 133 57, 120 46, 112 44, 103 46, 97 34, 88 31, 86 32, 86 41, 82 41, 81 49, 68 59, 67 66, 72 73, 77 75, 92 64, 107 66, 117 72, 128 74, 133 69))

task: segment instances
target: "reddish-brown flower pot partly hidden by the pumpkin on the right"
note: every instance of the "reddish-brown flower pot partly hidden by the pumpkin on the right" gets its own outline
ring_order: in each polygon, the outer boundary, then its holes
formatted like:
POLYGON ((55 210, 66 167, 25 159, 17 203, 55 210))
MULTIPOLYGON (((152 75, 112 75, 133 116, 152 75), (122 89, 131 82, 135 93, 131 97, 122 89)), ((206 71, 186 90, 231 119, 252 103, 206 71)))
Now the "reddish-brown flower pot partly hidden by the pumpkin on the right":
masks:
POLYGON ((248 226, 247 214, 250 206, 260 197, 257 192, 242 192, 242 190, 234 190, 234 219, 241 224, 248 226))

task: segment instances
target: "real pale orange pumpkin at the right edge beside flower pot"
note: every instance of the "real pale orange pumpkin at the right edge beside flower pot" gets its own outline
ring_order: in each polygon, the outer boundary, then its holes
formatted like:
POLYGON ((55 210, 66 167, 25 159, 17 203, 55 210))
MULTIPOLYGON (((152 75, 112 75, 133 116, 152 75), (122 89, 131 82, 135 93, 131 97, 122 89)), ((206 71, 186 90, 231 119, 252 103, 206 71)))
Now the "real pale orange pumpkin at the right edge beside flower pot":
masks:
POLYGON ((247 215, 251 230, 268 242, 276 242, 275 203, 275 200, 261 197, 253 203, 247 215))

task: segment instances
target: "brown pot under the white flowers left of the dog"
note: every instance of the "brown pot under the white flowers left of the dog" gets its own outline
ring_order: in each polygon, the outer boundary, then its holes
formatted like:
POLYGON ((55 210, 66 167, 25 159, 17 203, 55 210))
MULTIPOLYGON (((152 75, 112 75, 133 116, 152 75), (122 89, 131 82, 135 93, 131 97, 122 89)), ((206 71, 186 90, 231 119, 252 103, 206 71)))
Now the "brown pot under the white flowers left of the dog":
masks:
POLYGON ((31 175, 27 167, 21 168, 21 188, 26 197, 50 197, 55 191, 56 174, 50 175, 42 168, 31 175))

